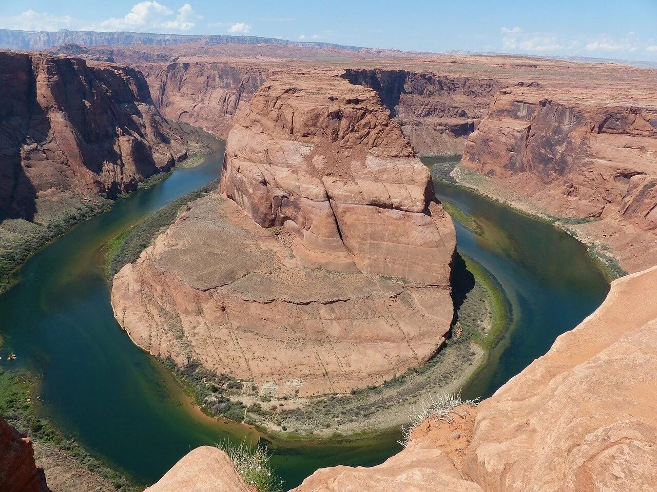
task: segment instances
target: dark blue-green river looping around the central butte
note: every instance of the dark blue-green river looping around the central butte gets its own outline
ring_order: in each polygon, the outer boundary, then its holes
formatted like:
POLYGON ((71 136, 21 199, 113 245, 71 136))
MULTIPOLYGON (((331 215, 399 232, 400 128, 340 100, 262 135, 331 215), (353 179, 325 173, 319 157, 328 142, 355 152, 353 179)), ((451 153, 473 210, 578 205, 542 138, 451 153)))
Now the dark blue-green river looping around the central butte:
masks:
MULTIPOLYGON (((156 482, 198 445, 258 439, 255 431, 203 415, 120 329, 100 251, 148 213, 217 179, 222 157, 223 148, 79 224, 32 256, 0 296, 0 367, 36 375, 37 413, 137 484, 156 482), (17 360, 7 361, 11 352, 17 360)), ((473 232, 455 220, 459 253, 497 279, 510 306, 507 329, 463 388, 464 396, 486 397, 591 314, 609 281, 585 246, 554 226, 435 184, 440 199, 478 224, 473 232)), ((284 486, 294 487, 324 466, 378 464, 400 449, 398 438, 390 431, 347 443, 274 440, 271 464, 284 486)))

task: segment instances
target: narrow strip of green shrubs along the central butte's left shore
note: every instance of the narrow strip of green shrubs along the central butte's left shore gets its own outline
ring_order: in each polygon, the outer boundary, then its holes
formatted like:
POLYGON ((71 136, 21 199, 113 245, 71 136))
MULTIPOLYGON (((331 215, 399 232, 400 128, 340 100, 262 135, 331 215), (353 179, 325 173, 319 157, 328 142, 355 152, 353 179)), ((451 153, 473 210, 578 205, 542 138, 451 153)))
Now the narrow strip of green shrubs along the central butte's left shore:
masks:
POLYGON ((114 277, 124 265, 132 263, 144 251, 163 228, 170 226, 177 218, 179 210, 187 203, 208 195, 215 190, 219 182, 214 181, 194 192, 181 196, 162 209, 148 215, 139 224, 114 237, 105 247, 106 274, 114 277))

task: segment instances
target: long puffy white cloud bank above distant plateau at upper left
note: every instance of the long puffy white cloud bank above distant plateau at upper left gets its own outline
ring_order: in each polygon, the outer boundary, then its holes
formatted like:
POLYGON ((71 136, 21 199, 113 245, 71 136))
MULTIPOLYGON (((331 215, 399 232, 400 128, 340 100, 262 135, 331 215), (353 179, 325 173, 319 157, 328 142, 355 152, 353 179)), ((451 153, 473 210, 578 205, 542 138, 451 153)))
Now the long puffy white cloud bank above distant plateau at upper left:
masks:
POLYGON ((89 22, 70 16, 55 16, 48 12, 26 10, 16 16, 0 16, 0 28, 30 31, 94 30, 94 31, 189 31, 202 17, 185 3, 177 15, 156 1, 135 4, 123 17, 110 17, 89 22))

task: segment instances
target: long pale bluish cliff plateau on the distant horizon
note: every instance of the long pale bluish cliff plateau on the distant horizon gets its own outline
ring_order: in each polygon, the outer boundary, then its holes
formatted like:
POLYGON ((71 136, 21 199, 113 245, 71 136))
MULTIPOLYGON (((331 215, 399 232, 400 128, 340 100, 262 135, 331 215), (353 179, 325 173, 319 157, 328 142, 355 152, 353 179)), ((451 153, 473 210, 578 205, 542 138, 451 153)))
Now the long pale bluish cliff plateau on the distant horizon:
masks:
POLYGON ((298 48, 338 48, 359 50, 359 47, 320 43, 317 41, 287 41, 273 37, 227 36, 189 34, 155 34, 137 32, 99 32, 99 31, 14 31, 0 29, 0 48, 18 50, 42 50, 66 43, 87 46, 131 46, 131 45, 180 45, 183 43, 201 43, 203 45, 279 45, 298 48))

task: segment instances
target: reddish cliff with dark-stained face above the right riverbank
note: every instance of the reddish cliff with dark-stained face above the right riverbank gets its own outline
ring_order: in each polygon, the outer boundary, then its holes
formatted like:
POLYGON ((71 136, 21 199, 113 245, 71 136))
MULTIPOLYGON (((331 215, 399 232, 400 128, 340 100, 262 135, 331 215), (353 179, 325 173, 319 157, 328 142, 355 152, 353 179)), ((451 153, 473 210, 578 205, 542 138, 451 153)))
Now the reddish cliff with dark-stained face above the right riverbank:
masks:
POLYGON ((506 89, 461 164, 553 215, 599 220, 587 234, 612 245, 627 270, 645 268, 657 239, 657 105, 638 95, 506 89))

